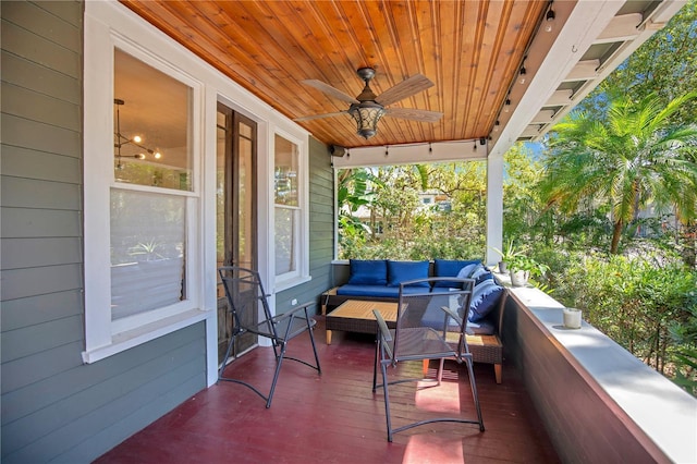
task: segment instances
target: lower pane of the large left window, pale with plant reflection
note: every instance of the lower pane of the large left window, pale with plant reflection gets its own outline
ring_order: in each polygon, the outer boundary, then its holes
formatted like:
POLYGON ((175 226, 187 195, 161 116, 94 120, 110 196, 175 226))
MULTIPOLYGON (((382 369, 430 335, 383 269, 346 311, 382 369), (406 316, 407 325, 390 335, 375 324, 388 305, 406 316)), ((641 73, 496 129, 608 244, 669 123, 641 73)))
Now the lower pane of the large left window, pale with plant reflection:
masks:
POLYGON ((186 198, 111 191, 112 320, 184 300, 186 198))

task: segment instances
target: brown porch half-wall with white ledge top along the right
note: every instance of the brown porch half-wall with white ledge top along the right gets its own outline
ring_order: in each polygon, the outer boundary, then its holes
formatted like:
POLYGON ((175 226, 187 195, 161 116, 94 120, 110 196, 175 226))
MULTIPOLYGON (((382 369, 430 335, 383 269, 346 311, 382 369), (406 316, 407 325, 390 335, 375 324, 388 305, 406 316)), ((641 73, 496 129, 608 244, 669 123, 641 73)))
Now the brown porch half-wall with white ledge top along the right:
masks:
POLYGON ((595 327, 565 329, 550 295, 509 290, 504 350, 564 462, 697 462, 697 399, 595 327))

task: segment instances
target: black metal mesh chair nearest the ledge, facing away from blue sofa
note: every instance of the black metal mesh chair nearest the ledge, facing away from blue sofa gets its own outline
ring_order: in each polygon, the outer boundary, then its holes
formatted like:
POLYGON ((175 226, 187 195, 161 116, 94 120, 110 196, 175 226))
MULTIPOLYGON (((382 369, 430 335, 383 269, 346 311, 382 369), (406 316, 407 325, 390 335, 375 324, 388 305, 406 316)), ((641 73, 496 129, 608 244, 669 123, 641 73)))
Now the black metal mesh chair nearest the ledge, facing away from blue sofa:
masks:
POLYGON ((453 422, 479 425, 479 431, 484 431, 484 420, 477 395, 477 384, 472 368, 472 354, 467 347, 465 330, 467 328, 467 315, 474 280, 472 279, 442 279, 428 278, 403 282, 400 285, 400 300, 395 329, 389 329, 379 310, 374 310, 378 321, 378 343, 376 346, 375 368, 372 375, 372 391, 382 388, 384 392, 384 413, 388 426, 388 441, 392 441, 394 434, 439 422, 453 422), (448 281, 449 286, 433 286, 436 282, 448 281), (421 285, 421 286, 419 286, 421 285), (433 318, 433 312, 442 314, 442 318, 433 318), (430 317, 425 317, 429 315, 430 317), (433 319, 438 322, 433 323, 433 319), (442 322, 441 322, 442 320, 442 322), (427 322, 428 321, 428 322, 427 322), (435 327, 437 326, 437 327, 435 327), (457 346, 447 342, 449 332, 460 333, 457 346), (477 419, 462 417, 437 417, 414 422, 398 428, 392 428, 390 417, 389 387, 395 383, 408 381, 421 381, 423 378, 409 378, 388 380, 388 367, 396 367, 399 363, 406 361, 439 359, 438 377, 435 381, 440 384, 445 358, 453 358, 457 363, 467 365, 472 396, 477 411, 477 419), (377 366, 382 371, 382 383, 377 383, 377 366))

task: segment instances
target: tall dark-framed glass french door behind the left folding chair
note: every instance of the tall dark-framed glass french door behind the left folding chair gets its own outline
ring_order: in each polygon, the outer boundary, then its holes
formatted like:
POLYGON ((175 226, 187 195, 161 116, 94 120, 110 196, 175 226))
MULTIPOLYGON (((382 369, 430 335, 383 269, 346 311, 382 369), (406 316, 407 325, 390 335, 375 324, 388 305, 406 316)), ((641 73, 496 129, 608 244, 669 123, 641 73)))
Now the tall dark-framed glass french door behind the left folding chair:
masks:
MULTIPOLYGON (((218 266, 257 270, 256 154, 254 121, 218 103, 217 115, 217 232, 218 266)), ((255 313, 255 312, 253 312, 255 313)), ((218 362, 222 362, 233 320, 222 285, 218 285, 218 362)), ((246 334, 235 342, 233 355, 256 344, 246 334)))

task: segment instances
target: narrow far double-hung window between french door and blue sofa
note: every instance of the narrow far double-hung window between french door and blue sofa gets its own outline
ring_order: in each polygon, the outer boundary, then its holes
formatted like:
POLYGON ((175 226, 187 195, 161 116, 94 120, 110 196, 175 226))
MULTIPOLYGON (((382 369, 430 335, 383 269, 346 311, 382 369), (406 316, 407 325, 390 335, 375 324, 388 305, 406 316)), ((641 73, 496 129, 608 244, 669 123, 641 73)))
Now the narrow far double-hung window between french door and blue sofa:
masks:
POLYGON ((297 144, 276 135, 273 164, 277 282, 307 274, 301 155, 297 144))

